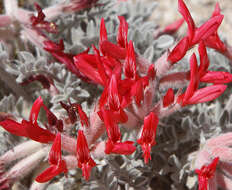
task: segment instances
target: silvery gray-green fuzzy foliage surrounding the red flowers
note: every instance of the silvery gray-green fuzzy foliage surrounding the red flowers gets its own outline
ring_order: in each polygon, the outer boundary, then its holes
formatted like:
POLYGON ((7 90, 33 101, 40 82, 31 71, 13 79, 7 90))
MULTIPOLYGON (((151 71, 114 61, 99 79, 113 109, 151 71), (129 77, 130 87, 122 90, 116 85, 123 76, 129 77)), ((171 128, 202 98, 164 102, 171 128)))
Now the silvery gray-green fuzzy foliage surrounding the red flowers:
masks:
MULTIPOLYGON (((56 1, 40 0, 38 2, 41 5, 49 6, 56 1)), ((171 36, 160 36, 156 40, 153 38, 156 24, 149 21, 149 17, 156 7, 156 3, 148 5, 139 0, 121 3, 100 1, 100 3, 106 4, 80 14, 61 16, 56 20, 60 27, 60 33, 51 38, 53 40, 64 39, 66 52, 80 53, 92 44, 98 45, 100 19, 104 18, 108 38, 115 42, 119 26, 117 16, 122 15, 129 24, 128 40, 133 40, 136 52, 149 61, 155 61, 164 50, 173 45, 174 38, 171 36)), ((223 56, 211 50, 208 53, 212 70, 230 71, 230 65, 223 56)), ((70 99, 71 102, 87 105, 90 99, 93 103, 93 99, 98 97, 101 90, 82 82, 64 65, 54 61, 47 53, 37 48, 33 53, 18 50, 16 59, 12 60, 9 59, 6 47, 1 45, 0 60, 1 64, 5 63, 4 70, 14 76, 18 83, 33 74, 51 77, 59 91, 58 94, 51 96, 48 90, 41 88, 41 85, 28 86, 26 92, 32 100, 42 96, 46 103, 50 103, 51 110, 56 113, 65 114, 59 105, 60 101, 67 102, 70 99)), ((187 59, 184 59, 174 66, 172 71, 186 71, 188 68, 189 63, 187 59)), ((191 165, 194 162, 194 156, 192 152, 198 149, 198 139, 200 138, 200 141, 203 142, 204 139, 222 131, 231 131, 231 102, 232 98, 230 97, 225 105, 219 103, 218 100, 214 103, 199 104, 164 118, 159 122, 157 145, 152 148, 152 161, 148 165, 142 161, 141 150, 137 150, 128 157, 110 157, 106 162, 101 162, 93 169, 92 179, 85 183, 82 189, 148 189, 148 187, 153 188, 154 184, 157 190, 186 189, 188 176, 193 176, 191 165)), ((28 116, 30 108, 31 105, 25 104, 22 97, 16 98, 14 95, 5 96, 0 101, 0 111, 10 112, 16 117, 28 116)), ((80 176, 78 180, 80 180, 80 176)), ((195 183, 196 181, 193 182, 191 188, 196 187, 195 183)), ((58 184, 60 185, 60 182, 58 184)), ((56 185, 50 188, 52 189, 56 185)), ((71 189, 71 187, 69 188, 71 189)))

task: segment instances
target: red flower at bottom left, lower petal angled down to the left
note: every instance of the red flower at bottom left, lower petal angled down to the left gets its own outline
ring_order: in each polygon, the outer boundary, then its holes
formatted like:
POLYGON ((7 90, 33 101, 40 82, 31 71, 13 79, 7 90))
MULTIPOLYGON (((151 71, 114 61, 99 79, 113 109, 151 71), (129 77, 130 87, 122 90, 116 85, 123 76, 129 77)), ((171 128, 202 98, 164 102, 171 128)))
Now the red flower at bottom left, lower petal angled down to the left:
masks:
POLYGON ((68 172, 66 162, 62 160, 60 133, 56 135, 56 138, 52 144, 52 148, 49 153, 48 160, 51 166, 43 171, 41 174, 39 174, 35 179, 39 183, 47 182, 60 173, 68 172))

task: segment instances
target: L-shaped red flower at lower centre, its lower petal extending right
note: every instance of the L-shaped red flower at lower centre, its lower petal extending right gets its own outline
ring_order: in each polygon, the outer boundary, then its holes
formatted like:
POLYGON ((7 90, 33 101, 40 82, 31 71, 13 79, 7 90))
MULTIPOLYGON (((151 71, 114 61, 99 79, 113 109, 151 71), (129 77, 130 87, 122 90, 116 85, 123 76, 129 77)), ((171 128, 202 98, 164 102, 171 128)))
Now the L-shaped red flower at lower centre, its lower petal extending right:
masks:
POLYGON ((120 129, 117 125, 118 118, 114 117, 114 114, 111 110, 101 109, 98 112, 99 117, 102 121, 104 121, 108 140, 105 146, 105 153, 115 153, 115 154, 124 154, 129 155, 132 154, 136 147, 133 145, 132 141, 121 142, 121 133, 120 129))

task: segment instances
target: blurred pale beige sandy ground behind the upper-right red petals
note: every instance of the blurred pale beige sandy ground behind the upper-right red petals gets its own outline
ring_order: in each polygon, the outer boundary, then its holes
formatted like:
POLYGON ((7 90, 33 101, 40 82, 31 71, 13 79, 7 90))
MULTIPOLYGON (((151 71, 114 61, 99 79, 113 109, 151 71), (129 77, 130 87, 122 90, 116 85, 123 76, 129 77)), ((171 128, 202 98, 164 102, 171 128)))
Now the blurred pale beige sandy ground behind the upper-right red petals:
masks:
MULTIPOLYGON (((157 20, 156 22, 158 22, 160 26, 166 26, 176 19, 181 18, 181 15, 177 11, 178 0, 148 1, 156 1, 159 3, 158 7, 152 14, 152 18, 157 20)), ((216 2, 219 2, 221 12, 224 14, 224 19, 220 26, 219 34, 225 37, 228 43, 232 45, 232 0, 185 0, 185 3, 189 8, 197 26, 210 18, 216 2)), ((186 31, 185 27, 180 29, 180 33, 186 31)))

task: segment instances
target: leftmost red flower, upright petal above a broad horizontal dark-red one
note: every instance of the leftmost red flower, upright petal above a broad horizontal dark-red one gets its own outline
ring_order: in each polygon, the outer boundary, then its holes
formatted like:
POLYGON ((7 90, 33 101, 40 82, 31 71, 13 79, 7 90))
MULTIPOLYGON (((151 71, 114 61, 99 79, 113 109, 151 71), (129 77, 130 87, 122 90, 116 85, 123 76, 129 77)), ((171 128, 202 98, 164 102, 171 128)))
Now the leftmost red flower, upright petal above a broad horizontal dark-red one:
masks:
POLYGON ((41 143, 53 142, 55 135, 49 130, 41 128, 37 123, 41 106, 43 106, 43 100, 39 97, 31 108, 29 121, 23 119, 21 123, 18 123, 14 120, 6 119, 1 121, 0 125, 8 132, 17 136, 27 137, 41 143))

